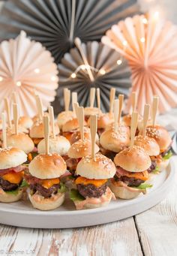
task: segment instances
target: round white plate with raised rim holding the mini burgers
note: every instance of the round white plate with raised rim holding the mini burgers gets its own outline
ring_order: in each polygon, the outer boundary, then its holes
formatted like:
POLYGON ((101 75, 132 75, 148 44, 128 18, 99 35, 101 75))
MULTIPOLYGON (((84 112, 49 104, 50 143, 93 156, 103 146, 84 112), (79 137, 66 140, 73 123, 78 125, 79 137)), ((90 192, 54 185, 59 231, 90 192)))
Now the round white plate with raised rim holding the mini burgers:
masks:
POLYGON ((67 198, 58 209, 41 212, 32 208, 29 202, 0 203, 0 222, 18 227, 68 228, 86 227, 118 221, 136 215, 156 205, 166 197, 175 178, 174 160, 159 175, 151 176, 153 187, 148 194, 132 200, 115 200, 109 206, 77 211, 67 198))

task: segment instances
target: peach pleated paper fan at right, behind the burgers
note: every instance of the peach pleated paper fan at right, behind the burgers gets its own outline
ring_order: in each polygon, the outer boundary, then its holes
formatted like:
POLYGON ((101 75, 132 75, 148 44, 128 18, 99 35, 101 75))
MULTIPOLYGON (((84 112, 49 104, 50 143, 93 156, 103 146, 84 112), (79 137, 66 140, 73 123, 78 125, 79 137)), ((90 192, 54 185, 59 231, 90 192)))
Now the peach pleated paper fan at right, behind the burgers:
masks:
MULTIPOLYGON (((159 13, 128 17, 112 26, 102 38, 128 60, 132 71, 132 91, 138 95, 142 112, 152 96, 160 97, 163 113, 177 105, 177 29, 160 20, 159 13)), ((130 99, 127 102, 130 108, 130 99)))

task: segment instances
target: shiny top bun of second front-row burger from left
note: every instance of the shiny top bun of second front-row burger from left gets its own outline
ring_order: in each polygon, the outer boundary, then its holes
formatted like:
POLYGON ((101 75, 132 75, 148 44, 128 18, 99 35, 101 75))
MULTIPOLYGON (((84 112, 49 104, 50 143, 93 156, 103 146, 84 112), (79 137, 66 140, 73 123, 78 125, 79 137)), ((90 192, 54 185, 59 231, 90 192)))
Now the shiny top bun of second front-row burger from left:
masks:
POLYGON ((62 156, 53 153, 37 155, 28 165, 29 173, 38 179, 55 179, 66 171, 66 163, 62 156))

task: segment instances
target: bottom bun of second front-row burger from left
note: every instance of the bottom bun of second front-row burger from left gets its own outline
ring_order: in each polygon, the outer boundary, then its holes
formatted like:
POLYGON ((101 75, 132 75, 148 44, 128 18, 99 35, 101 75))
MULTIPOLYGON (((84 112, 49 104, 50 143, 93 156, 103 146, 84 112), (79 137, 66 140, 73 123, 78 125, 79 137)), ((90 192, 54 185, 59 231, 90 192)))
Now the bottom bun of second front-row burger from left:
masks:
POLYGON ((31 195, 28 193, 28 197, 34 208, 48 211, 50 209, 56 209, 62 205, 65 200, 65 193, 53 194, 52 197, 49 198, 44 198, 40 194, 31 195))

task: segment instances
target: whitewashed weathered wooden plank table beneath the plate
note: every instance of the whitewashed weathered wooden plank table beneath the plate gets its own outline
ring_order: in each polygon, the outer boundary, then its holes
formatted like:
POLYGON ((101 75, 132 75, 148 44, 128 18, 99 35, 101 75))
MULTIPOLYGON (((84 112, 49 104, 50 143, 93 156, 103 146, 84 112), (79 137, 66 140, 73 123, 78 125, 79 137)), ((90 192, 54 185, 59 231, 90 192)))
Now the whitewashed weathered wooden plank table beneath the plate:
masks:
MULTIPOLYGON (((165 116, 162 121, 167 120, 166 122, 175 126, 175 113, 168 115, 167 119, 165 116)), ((177 163, 177 157, 175 159, 177 163)), ((161 203, 123 221, 65 230, 30 229, 0 224, 0 255, 7 254, 175 256, 177 176, 175 186, 161 203)))

